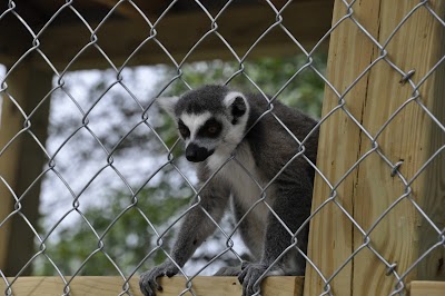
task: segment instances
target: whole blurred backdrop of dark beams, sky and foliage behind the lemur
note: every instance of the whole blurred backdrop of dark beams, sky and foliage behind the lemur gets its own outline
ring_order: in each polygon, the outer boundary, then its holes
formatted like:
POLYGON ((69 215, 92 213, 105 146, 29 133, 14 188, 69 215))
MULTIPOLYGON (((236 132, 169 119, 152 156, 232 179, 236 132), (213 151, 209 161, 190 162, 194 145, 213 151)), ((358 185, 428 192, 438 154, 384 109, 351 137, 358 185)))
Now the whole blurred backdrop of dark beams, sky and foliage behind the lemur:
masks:
MULTIPOLYGON (((313 20, 305 12, 315 2, 285 4, 3 3, 0 160, 20 159, 14 174, 0 166, 4 275, 130 275, 166 258, 196 177, 156 98, 227 83, 318 118, 327 41, 306 49, 330 26, 332 8, 313 20)), ((231 231, 229 217, 221 228, 231 231)), ((217 231, 186 272, 199 270, 226 240, 217 231)), ((201 274, 222 264, 238 263, 227 253, 201 274)))

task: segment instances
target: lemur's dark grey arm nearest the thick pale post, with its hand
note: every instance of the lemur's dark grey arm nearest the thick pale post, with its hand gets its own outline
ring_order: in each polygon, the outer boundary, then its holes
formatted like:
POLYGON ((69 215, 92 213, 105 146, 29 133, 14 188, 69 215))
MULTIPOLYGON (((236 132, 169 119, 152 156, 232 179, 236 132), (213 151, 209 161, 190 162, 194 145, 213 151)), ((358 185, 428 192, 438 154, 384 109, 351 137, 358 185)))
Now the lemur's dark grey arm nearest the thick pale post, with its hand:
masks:
POLYGON ((283 180, 283 177, 276 180, 273 209, 280 220, 271 213, 268 215, 260 262, 245 263, 243 265, 243 270, 238 278, 243 284, 244 296, 254 295, 258 290, 259 287, 256 285, 259 284, 257 283, 258 279, 265 275, 267 268, 281 255, 283 257, 268 270, 268 275, 304 275, 306 260, 297 251, 297 247, 306 253, 309 228, 306 226, 301 229, 297 235, 298 243, 296 246, 284 254, 293 243, 293 235, 283 226, 284 223, 295 234, 310 214, 313 186, 305 171, 300 170, 301 168, 293 171, 296 176, 290 184, 288 180, 283 180))

